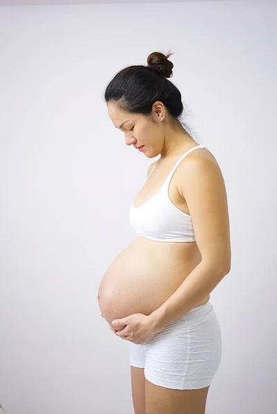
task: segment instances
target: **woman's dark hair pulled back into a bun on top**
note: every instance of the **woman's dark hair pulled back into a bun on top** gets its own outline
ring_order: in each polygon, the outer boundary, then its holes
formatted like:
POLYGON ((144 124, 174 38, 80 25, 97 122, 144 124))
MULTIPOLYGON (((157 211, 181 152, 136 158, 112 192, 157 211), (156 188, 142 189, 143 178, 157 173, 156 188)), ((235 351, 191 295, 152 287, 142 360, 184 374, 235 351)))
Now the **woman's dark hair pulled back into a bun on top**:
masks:
POLYGON ((104 92, 106 103, 114 101, 131 113, 150 116, 155 101, 161 101, 169 112, 171 124, 187 130, 181 120, 183 104, 180 90, 166 78, 172 77, 172 55, 153 52, 147 58, 147 65, 128 66, 117 72, 104 92), (182 128, 182 127, 181 127, 182 128))

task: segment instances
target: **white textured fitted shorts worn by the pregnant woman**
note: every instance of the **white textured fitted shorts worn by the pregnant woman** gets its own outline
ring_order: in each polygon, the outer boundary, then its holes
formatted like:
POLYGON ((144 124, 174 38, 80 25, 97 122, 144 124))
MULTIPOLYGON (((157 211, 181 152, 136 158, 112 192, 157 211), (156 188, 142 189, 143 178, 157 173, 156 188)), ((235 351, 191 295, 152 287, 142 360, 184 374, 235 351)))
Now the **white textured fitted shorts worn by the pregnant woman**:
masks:
POLYGON ((130 342, 130 364, 155 385, 178 390, 211 385, 222 355, 211 302, 191 309, 144 344, 130 342))

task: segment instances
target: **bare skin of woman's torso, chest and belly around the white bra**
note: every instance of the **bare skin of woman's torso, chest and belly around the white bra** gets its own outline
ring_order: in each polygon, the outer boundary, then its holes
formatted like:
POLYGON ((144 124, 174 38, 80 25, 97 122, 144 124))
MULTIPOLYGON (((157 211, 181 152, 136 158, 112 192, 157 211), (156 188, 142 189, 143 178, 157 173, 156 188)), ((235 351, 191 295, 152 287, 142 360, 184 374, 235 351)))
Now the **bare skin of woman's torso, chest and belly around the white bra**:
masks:
MULTIPOLYGON (((203 150, 200 148, 193 152, 203 150)), ((142 206, 157 193, 178 157, 180 155, 157 165, 135 197, 135 206, 142 206)), ((169 198, 177 208, 189 214, 187 203, 178 191, 181 175, 180 165, 171 179, 169 198)), ((200 261, 196 242, 155 242, 137 237, 116 257, 102 278, 98 295, 102 315, 109 324, 113 319, 133 313, 150 315, 173 295, 200 261)), ((195 307, 206 304, 208 300, 209 295, 195 307)))

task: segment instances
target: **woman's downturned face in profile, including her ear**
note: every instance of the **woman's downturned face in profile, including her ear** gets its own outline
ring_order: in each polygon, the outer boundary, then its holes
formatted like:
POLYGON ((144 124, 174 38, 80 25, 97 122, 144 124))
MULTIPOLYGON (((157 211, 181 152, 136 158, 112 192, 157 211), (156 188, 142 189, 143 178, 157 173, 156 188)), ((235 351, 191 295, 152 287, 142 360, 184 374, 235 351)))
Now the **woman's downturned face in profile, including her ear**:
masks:
POLYGON ((153 105, 151 117, 141 114, 131 114, 118 108, 113 102, 108 102, 108 116, 115 128, 124 133, 125 143, 135 148, 143 146, 141 152, 148 158, 157 157, 164 146, 164 106, 160 103, 153 105))

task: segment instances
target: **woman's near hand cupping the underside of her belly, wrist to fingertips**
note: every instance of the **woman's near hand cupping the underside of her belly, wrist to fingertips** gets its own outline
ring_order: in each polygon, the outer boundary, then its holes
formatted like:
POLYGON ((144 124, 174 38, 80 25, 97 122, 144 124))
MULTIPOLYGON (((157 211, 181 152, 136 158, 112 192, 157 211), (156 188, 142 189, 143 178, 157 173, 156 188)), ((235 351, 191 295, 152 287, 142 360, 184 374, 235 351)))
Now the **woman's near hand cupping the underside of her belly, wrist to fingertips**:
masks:
POLYGON ((144 315, 144 313, 134 313, 122 319, 115 319, 112 325, 115 326, 115 329, 118 329, 115 335, 134 344, 149 342, 158 333, 149 316, 144 315))

